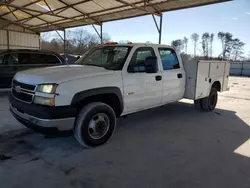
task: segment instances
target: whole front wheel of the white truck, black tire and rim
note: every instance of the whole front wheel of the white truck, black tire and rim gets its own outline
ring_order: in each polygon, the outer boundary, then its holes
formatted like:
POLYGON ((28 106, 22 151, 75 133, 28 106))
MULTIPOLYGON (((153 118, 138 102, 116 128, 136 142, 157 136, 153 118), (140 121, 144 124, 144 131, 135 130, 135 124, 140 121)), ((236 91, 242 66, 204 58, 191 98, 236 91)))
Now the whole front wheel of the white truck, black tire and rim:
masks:
POLYGON ((84 147, 92 148, 106 143, 115 132, 116 116, 107 104, 93 102, 77 115, 75 138, 84 147))

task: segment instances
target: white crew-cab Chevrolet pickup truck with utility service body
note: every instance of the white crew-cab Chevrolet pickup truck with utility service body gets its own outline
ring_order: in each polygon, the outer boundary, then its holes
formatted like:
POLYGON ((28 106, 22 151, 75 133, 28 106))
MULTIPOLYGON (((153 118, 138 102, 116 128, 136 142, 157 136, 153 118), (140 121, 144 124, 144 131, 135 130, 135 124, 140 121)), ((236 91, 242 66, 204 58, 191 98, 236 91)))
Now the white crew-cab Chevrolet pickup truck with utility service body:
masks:
POLYGON ((212 111, 217 92, 228 89, 229 62, 182 62, 171 46, 104 44, 74 65, 18 72, 10 110, 22 124, 42 133, 73 131, 95 147, 108 141, 116 118, 182 98, 212 111))

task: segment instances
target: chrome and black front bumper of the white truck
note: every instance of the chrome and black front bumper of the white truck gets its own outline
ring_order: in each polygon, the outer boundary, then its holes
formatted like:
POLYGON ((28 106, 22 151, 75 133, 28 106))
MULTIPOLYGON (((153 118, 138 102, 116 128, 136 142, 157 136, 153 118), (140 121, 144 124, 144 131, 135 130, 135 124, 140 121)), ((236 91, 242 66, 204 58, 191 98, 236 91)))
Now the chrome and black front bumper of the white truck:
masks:
POLYGON ((10 111, 12 112, 13 116, 19 122, 37 132, 41 132, 44 134, 54 134, 60 131, 70 131, 74 128, 75 116, 73 116, 73 112, 70 112, 70 110, 68 110, 68 114, 71 114, 71 116, 61 117, 61 110, 59 110, 58 115, 55 115, 56 108, 54 108, 54 114, 51 116, 51 114, 48 114, 48 111, 43 111, 45 110, 43 109, 44 106, 41 107, 42 111, 38 113, 38 111, 41 110, 39 105, 35 105, 37 107, 34 108, 33 104, 24 104, 14 99, 12 96, 10 96, 9 99, 10 111), (27 105, 29 105, 30 108, 33 109, 32 113, 37 114, 38 117, 28 114, 27 110, 25 110, 28 108, 27 105))

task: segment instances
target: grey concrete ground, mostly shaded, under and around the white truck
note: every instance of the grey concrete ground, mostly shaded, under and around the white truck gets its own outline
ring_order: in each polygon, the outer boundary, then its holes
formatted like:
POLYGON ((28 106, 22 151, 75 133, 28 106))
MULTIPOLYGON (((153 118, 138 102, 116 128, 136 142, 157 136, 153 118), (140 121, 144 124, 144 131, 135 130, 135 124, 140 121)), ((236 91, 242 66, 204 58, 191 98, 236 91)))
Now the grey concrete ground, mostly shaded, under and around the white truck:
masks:
POLYGON ((22 126, 1 96, 0 187, 250 188, 250 78, 229 85, 213 112, 182 100, 120 118, 94 149, 73 137, 8 134, 22 126))

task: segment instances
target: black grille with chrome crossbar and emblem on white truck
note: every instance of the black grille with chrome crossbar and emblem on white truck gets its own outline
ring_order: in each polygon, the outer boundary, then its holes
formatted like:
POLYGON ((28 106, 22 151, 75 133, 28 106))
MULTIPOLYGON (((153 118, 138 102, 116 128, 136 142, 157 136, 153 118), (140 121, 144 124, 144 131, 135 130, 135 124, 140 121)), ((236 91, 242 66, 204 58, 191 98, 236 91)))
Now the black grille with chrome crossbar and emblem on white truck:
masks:
POLYGON ((16 80, 12 81, 11 93, 14 98, 26 103, 32 103, 36 86, 18 82, 16 80))

